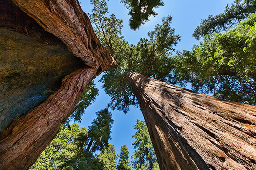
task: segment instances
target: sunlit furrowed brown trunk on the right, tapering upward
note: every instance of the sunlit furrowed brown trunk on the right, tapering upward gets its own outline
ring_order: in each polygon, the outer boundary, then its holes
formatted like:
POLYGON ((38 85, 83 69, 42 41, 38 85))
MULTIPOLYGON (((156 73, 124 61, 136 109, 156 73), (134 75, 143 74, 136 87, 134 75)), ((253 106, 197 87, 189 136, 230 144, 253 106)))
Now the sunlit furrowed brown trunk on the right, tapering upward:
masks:
POLYGON ((161 170, 256 170, 256 107, 137 73, 139 101, 161 170))

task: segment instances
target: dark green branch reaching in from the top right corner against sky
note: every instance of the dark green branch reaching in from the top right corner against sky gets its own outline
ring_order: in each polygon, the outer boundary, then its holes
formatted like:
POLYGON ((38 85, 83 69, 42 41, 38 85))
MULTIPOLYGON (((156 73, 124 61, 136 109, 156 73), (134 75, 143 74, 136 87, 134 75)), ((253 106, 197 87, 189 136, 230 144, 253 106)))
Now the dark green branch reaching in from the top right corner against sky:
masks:
POLYGON ((256 0, 236 0, 230 7, 227 5, 224 13, 202 20, 195 29, 193 37, 200 39, 202 36, 226 30, 234 23, 242 21, 248 17, 249 13, 256 12, 256 0))

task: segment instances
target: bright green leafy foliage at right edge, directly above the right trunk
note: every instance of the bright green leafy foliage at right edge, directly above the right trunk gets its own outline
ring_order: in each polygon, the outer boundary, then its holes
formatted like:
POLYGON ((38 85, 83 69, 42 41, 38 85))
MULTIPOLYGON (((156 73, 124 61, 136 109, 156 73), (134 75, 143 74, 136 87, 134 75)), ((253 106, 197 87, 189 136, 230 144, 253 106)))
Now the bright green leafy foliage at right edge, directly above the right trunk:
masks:
POLYGON ((256 13, 224 33, 204 36, 192 51, 176 57, 170 82, 187 81, 195 91, 255 105, 256 13))

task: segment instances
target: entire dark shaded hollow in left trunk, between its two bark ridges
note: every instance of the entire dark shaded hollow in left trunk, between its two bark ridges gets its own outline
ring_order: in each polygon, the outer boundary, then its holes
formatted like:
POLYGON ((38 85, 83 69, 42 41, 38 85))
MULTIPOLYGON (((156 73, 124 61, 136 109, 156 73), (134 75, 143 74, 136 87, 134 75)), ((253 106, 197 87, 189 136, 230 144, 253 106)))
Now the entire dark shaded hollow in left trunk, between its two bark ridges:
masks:
POLYGON ((0 0, 0 133, 84 66, 11 0, 0 0))

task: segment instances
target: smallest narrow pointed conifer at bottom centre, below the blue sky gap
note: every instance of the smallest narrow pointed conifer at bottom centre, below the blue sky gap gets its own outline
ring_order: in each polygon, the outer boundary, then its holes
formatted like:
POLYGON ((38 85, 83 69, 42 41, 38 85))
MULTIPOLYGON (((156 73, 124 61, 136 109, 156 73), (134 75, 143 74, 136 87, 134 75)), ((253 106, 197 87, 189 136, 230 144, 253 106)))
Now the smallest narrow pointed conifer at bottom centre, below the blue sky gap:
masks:
POLYGON ((132 170, 129 161, 129 150, 126 145, 121 146, 120 154, 118 155, 119 161, 117 165, 117 170, 132 170))

